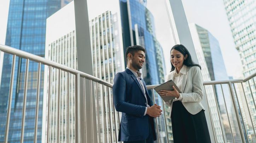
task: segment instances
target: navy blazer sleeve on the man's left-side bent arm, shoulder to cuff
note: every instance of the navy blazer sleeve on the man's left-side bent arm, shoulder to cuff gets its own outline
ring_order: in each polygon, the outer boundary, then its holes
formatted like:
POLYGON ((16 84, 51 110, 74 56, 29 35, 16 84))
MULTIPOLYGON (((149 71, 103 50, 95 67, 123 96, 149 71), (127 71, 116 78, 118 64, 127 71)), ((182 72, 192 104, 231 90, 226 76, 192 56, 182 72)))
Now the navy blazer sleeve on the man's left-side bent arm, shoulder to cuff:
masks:
POLYGON ((143 116, 146 110, 145 106, 131 104, 126 99, 126 80, 121 73, 117 73, 114 78, 113 99, 116 111, 124 112, 136 116, 143 116))

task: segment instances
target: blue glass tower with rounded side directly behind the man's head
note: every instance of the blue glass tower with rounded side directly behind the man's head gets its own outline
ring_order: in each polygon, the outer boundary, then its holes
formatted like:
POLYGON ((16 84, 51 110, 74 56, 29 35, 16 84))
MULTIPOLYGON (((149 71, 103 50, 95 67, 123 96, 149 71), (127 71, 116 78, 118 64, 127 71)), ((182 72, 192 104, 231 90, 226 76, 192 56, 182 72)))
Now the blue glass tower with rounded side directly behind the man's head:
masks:
MULTIPOLYGON (((155 22, 152 13, 147 9, 146 0, 120 0, 120 13, 124 52, 126 47, 140 45, 146 49, 146 62, 142 67, 142 78, 146 85, 156 85, 164 81, 164 62, 162 47, 156 39, 155 22)), ((125 53, 124 53, 125 54, 125 53)), ((149 90, 152 97, 152 90, 149 90)), ((163 106, 162 99, 155 92, 156 103, 163 106)), ((169 111, 167 109, 167 111, 169 111)), ((167 113, 169 115, 169 113, 167 113)), ((170 131, 170 119, 168 128, 170 131)), ((160 142, 167 142, 164 116, 158 119, 160 142)), ((170 131, 170 135, 171 131, 170 131)), ((169 137, 171 138, 171 136, 169 137)))

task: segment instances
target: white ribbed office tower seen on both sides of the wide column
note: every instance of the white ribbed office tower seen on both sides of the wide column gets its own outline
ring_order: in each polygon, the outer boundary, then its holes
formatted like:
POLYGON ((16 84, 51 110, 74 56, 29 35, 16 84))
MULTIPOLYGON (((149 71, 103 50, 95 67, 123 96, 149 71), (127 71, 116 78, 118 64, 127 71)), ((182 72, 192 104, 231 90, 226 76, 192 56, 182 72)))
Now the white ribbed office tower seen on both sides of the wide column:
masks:
MULTIPOLYGON (((118 18, 117 14, 112 14, 110 11, 106 11, 94 19, 89 21, 90 28, 90 36, 91 36, 91 49, 92 49, 92 61, 93 61, 93 76, 103 79, 109 83, 113 83, 114 76, 116 72, 121 72, 124 70, 124 60, 123 60, 123 47, 122 47, 122 37, 121 31, 118 26, 118 18)), ((77 69, 77 55, 76 55, 76 32, 75 32, 75 13, 74 13, 74 2, 70 2, 67 6, 60 9, 58 12, 54 13, 51 17, 47 19, 47 30, 46 30, 46 55, 48 59, 55 61, 57 63, 69 66, 71 68, 77 69), (67 23, 66 25, 62 25, 62 23, 67 23), (59 31, 59 32, 58 32, 59 31)), ((57 123, 57 99, 55 95, 58 95, 58 70, 52 70, 52 93, 51 95, 51 106, 53 109, 50 111, 50 136, 55 136, 52 138, 50 142, 56 142, 56 134, 57 134, 57 126, 54 125, 57 123)), ((45 79, 46 80, 46 79, 45 79)), ((67 104, 67 86, 70 86, 70 125, 74 124, 75 118, 75 79, 70 79, 70 85, 67 85, 67 75, 61 73, 60 85, 61 94, 60 101, 63 101, 60 106, 60 135, 64 134, 64 136, 60 136, 61 141, 65 142, 65 136, 67 135, 66 131, 66 123, 67 115, 65 106, 67 104)), ((110 130, 114 132, 114 124, 113 126, 109 125, 109 122, 104 122, 104 119, 111 118, 108 113, 113 113, 114 109, 112 108, 112 102, 110 102, 110 111, 105 107, 103 107, 103 102, 105 105, 108 105, 107 97, 112 99, 111 92, 109 91, 109 95, 107 95, 107 90, 105 87, 102 87, 98 84, 99 88, 96 89, 96 84, 94 84, 94 93, 95 98, 98 97, 98 102, 95 99, 96 108, 99 108, 99 113, 97 111, 97 117, 99 115, 99 125, 100 130, 98 134, 100 134, 100 142, 111 142, 110 131, 104 129, 104 125, 110 126, 110 130), (104 99, 103 99, 104 97, 104 99), (99 103, 99 104, 98 104, 99 103), (104 110, 106 114, 104 114, 104 110), (105 136, 107 140, 105 140, 105 136)), ((46 117, 47 120, 47 117, 46 117)), ((117 120, 117 116, 116 119, 117 120)), ((116 123, 118 128, 118 123, 116 123)), ((75 126, 70 126, 70 142, 75 142, 75 126), (71 138, 72 137, 72 138, 71 138)), ((116 129, 115 129, 116 131, 116 129)), ((112 137, 115 142, 115 138, 112 137)))

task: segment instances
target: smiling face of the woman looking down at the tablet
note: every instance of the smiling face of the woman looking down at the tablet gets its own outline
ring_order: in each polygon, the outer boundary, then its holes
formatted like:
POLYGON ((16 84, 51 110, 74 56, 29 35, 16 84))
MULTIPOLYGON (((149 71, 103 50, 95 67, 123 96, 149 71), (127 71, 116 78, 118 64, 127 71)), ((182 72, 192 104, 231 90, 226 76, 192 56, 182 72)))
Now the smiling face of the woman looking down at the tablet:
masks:
POLYGON ((181 52, 175 49, 171 50, 171 64, 173 64, 174 67, 181 69, 185 59, 186 57, 184 57, 181 52))

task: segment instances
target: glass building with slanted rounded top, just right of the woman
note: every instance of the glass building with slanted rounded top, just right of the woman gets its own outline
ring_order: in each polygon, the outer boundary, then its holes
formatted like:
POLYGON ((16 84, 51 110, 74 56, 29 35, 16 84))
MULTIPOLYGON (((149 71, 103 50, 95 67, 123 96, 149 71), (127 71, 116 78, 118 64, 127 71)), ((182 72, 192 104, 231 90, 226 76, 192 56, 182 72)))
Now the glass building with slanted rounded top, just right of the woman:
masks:
MULTIPOLYGON (((197 51, 197 58, 199 60, 199 64, 202 66, 203 80, 204 81, 228 80, 229 77, 227 76, 222 53, 221 53, 219 42, 217 41, 217 39, 208 30, 204 29, 203 27, 200 27, 196 24, 190 24, 189 26, 190 26, 192 39, 195 44, 195 49, 197 51), (205 67, 207 69, 205 69, 205 67)), ((241 88, 239 86, 236 86, 236 89, 237 91, 240 92, 241 88)), ((213 87, 205 86, 205 92, 208 97, 208 102, 211 108, 211 116, 213 117, 213 120, 214 120, 214 128, 216 130, 218 141, 232 142, 232 135, 231 135, 232 133, 235 141, 236 140, 239 141, 239 132, 238 132, 238 128, 235 121, 235 115, 233 112, 231 99, 229 99, 230 96, 229 96, 229 90, 227 85, 223 84, 222 87, 220 85, 215 85, 214 89, 213 87), (222 89, 223 89, 223 93, 222 93, 222 89), (216 106, 216 103, 215 103, 215 96, 216 96, 217 102, 219 103, 218 107, 216 106), (227 109, 224 104, 223 98, 225 98, 226 100, 227 109), (217 110, 219 110, 221 113, 220 119, 217 118, 218 117, 217 110), (219 120, 221 121, 221 123, 217 122, 219 120), (232 129, 232 132, 230 131, 230 126, 232 129), (225 135, 222 135, 222 132, 221 132, 222 128, 226 132, 225 135)), ((241 103, 240 103, 241 111, 239 110, 239 114, 240 115, 242 114, 243 117, 246 117, 247 115, 244 111, 244 108, 246 108, 245 99, 243 99, 243 97, 241 97, 240 94, 238 94, 237 96, 238 96, 238 99, 241 100, 241 103)), ((237 104, 237 107, 238 107, 238 104, 237 104)), ((248 126, 247 119, 244 118, 243 121, 248 126)))

